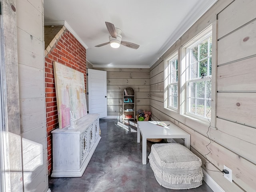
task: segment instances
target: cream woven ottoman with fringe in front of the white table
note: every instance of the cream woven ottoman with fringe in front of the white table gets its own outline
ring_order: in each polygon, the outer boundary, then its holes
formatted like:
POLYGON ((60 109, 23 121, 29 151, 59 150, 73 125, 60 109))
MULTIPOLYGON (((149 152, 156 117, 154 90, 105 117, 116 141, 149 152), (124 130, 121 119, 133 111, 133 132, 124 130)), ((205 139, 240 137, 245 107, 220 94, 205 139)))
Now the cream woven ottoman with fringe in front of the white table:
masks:
POLYGON ((202 161, 178 143, 151 146, 148 156, 157 182, 169 189, 191 189, 202 185, 202 161))

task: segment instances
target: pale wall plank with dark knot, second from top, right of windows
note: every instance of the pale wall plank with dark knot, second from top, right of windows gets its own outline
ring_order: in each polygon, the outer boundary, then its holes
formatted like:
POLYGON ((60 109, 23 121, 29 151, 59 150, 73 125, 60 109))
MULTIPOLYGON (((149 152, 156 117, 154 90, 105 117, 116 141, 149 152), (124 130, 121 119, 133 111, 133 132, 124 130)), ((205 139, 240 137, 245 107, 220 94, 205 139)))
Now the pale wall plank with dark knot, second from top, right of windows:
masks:
POLYGON ((218 66, 256 54, 256 21, 218 41, 218 66))

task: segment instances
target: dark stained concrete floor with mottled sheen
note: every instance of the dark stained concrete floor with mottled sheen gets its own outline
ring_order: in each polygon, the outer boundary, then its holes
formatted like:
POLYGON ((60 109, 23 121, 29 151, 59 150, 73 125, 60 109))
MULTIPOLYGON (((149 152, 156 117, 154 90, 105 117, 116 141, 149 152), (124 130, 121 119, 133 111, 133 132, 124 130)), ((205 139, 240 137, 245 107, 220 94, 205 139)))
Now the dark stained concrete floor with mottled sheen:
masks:
MULTIPOLYGON (((100 119, 101 140, 84 174, 76 178, 51 178, 52 192, 212 192, 203 185, 190 190, 171 190, 158 184, 147 159, 142 165, 142 146, 133 122, 122 124, 100 119)), ((153 143, 147 142, 147 154, 153 143)))

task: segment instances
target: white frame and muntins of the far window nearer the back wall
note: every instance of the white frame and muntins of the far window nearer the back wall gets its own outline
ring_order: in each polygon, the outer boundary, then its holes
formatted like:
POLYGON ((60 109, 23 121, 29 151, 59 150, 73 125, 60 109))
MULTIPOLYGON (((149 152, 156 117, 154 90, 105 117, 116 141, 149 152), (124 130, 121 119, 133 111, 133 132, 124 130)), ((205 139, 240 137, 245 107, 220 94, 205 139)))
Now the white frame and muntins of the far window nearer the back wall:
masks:
POLYGON ((178 51, 176 51, 174 54, 172 54, 172 56, 168 57, 165 62, 164 62, 165 66, 164 66, 164 70, 165 70, 165 81, 164 81, 164 87, 165 87, 165 92, 166 94, 164 94, 165 98, 165 104, 164 104, 164 107, 167 108, 167 109, 171 109, 171 110, 175 110, 177 111, 178 110, 178 100, 179 100, 179 94, 178 94, 178 89, 179 89, 179 86, 178 86, 178 79, 180 78, 179 77, 179 74, 178 74, 178 68, 179 68, 179 64, 178 64, 178 51), (171 62, 172 61, 176 61, 176 67, 177 69, 175 68, 174 72, 172 71, 172 68, 171 68, 171 62), (172 74, 174 74, 174 78, 171 78, 172 74), (174 79, 174 81, 172 80, 174 79), (171 87, 172 86, 176 86, 177 89, 177 99, 176 99, 176 102, 177 102, 177 107, 174 107, 174 95, 170 95, 171 93, 171 87), (173 106, 171 105, 171 101, 173 101, 173 106))

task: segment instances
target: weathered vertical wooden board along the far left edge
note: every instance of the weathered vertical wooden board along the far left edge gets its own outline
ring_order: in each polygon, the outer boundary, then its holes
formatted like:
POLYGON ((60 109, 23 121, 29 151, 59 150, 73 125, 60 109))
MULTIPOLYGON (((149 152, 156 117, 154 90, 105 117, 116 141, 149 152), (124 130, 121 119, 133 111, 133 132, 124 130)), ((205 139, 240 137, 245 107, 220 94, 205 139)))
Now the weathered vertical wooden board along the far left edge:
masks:
POLYGON ((1 191, 22 191, 22 148, 15 0, 1 1, 1 191), (13 171, 16 170, 16 171, 13 171))

